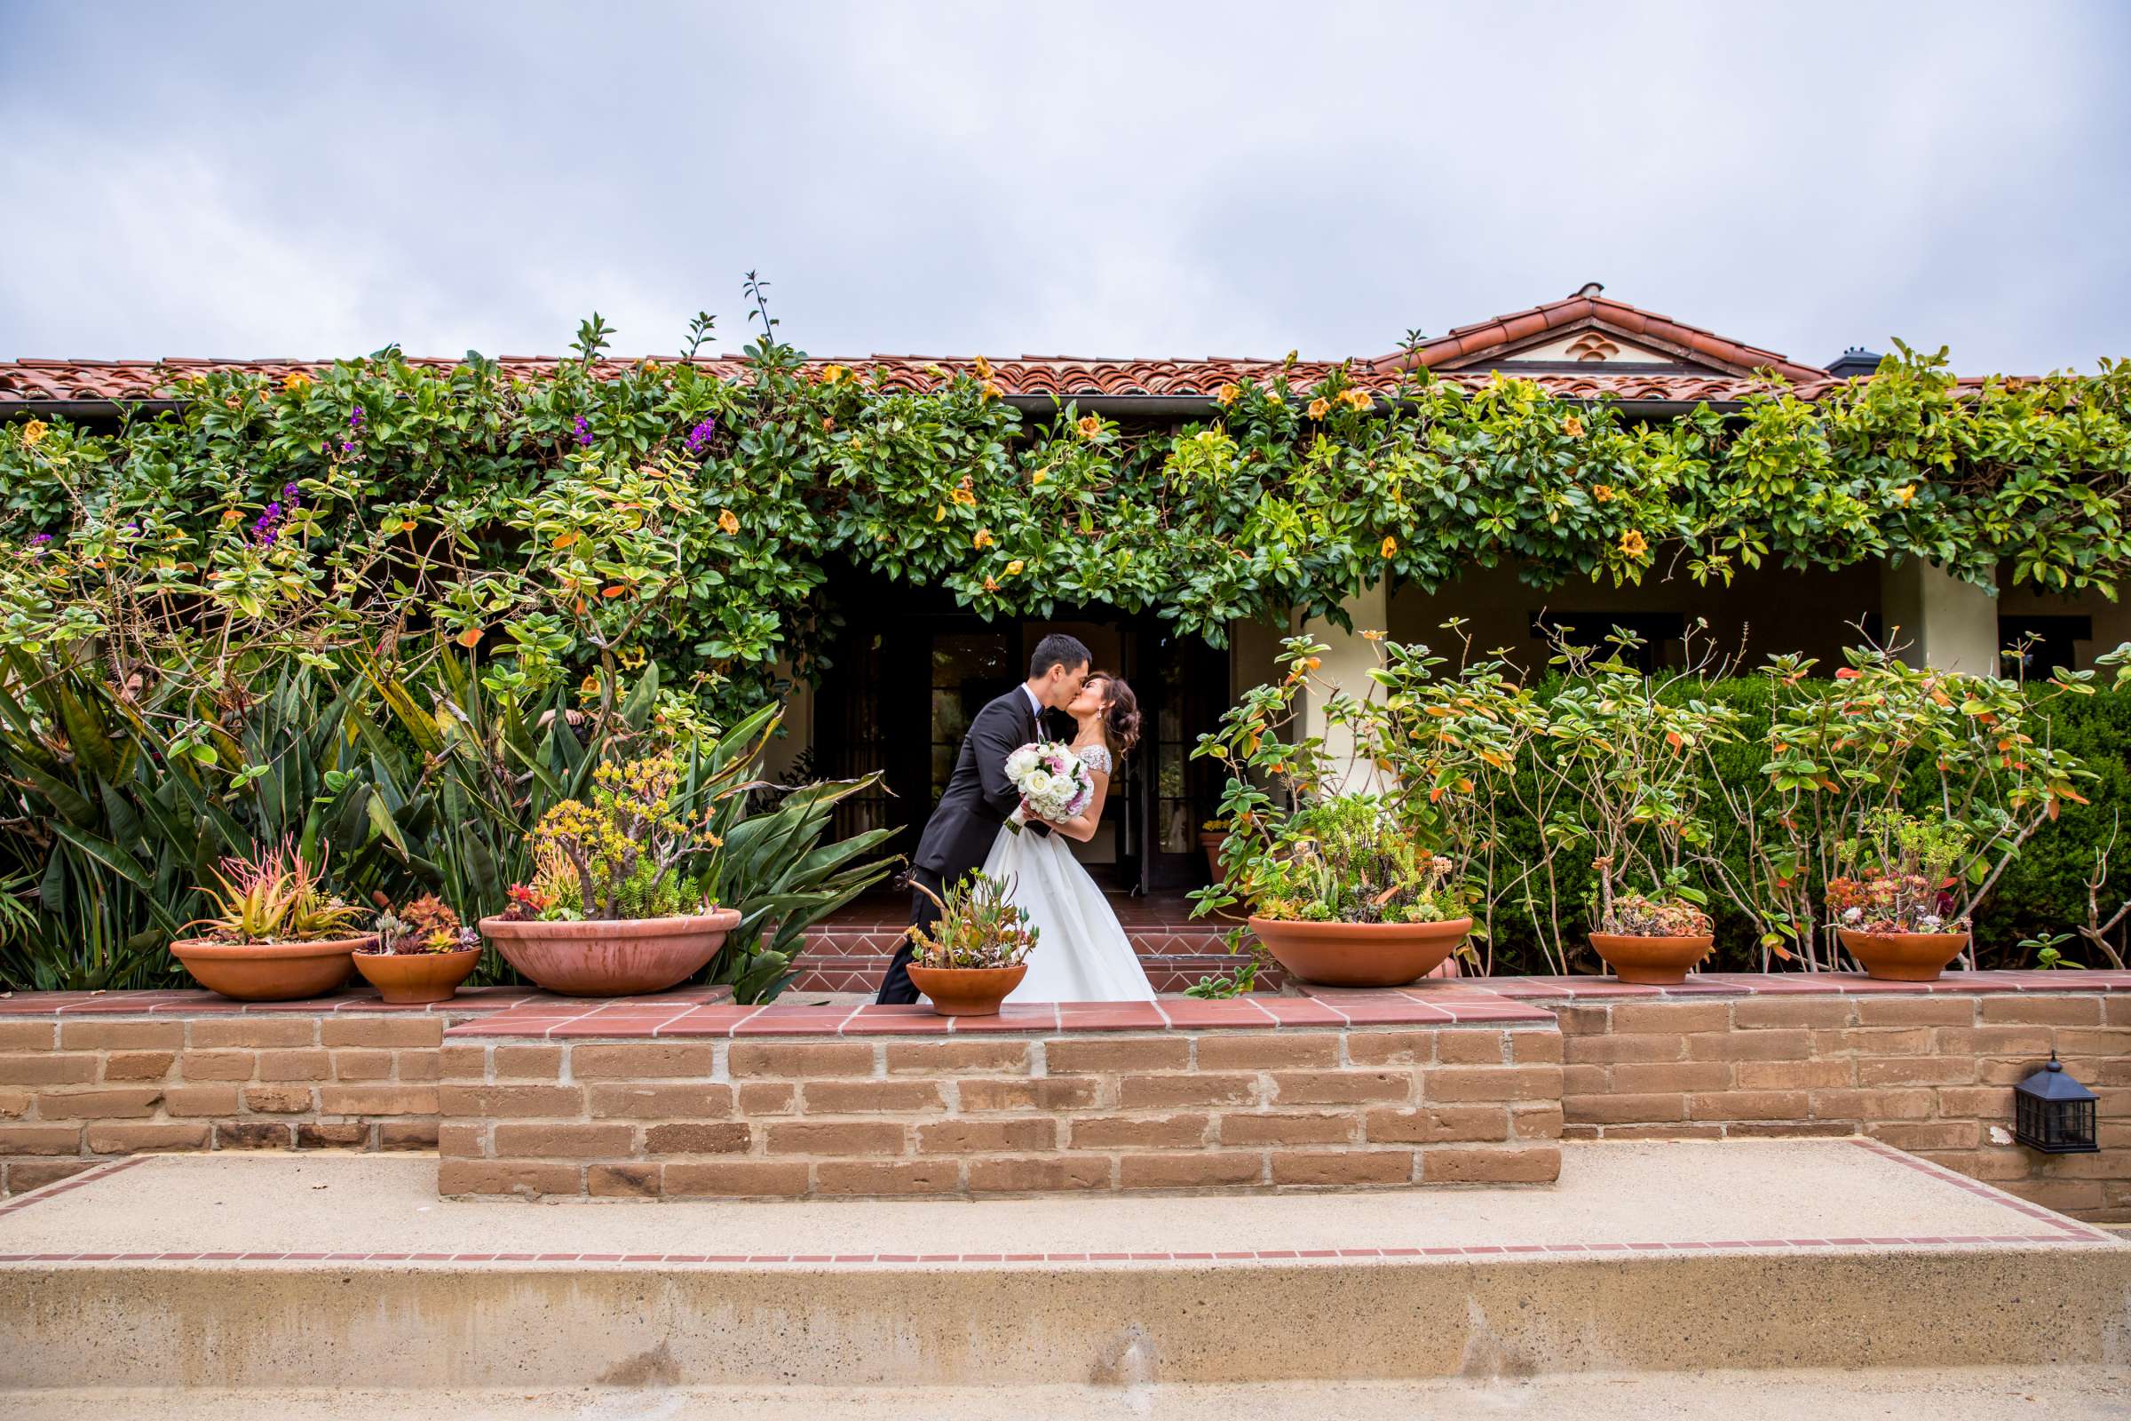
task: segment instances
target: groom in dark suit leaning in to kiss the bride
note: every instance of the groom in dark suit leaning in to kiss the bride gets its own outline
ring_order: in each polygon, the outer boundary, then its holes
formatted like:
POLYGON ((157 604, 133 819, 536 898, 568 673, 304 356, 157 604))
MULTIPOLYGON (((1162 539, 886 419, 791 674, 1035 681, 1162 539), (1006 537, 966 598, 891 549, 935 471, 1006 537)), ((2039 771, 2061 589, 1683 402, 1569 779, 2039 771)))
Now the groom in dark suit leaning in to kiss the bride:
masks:
MULTIPOLYGON (((1046 739, 1044 712, 1063 712, 1087 682, 1089 654, 1074 637, 1048 635, 1029 656, 1029 680, 976 712, 970 733, 961 737, 955 775, 940 795, 940 807, 925 820, 925 837, 910 867, 910 882, 940 897, 970 869, 985 867, 985 854, 999 837, 999 824, 1021 807, 1021 790, 1006 780, 1006 756, 1036 739, 1046 739)), ((1042 820, 1031 820, 1036 833, 1051 833, 1042 820)), ((910 888, 910 925, 931 933, 940 905, 910 888)), ((880 982, 882 1006, 916 1001, 910 982, 912 942, 895 950, 889 976, 880 982)))

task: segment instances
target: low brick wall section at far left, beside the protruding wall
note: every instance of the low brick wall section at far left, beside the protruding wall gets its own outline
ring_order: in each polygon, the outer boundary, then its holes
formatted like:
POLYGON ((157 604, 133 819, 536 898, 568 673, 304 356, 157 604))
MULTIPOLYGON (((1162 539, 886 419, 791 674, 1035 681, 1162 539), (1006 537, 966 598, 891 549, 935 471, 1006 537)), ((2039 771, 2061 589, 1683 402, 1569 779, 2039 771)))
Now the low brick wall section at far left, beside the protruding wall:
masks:
POLYGON ((428 1150, 443 1018, 0 1018, 0 1195, 143 1150, 428 1150))

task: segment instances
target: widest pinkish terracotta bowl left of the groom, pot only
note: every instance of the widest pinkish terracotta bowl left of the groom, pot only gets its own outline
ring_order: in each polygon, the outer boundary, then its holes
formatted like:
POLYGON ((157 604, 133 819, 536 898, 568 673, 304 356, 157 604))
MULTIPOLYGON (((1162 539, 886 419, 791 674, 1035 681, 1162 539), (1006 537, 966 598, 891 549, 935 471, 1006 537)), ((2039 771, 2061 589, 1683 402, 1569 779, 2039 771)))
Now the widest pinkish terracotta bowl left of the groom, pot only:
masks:
POLYGON ((482 918, 482 933, 511 967, 565 997, 633 997, 680 986, 725 946, 739 914, 618 922, 511 922, 482 918))

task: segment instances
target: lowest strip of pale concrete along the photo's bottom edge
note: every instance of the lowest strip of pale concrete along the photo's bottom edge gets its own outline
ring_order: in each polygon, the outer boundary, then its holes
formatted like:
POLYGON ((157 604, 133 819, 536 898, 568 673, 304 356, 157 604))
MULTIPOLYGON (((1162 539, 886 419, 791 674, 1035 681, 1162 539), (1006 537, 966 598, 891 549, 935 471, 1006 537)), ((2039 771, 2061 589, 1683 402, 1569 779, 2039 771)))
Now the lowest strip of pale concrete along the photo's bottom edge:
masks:
POLYGON ((2125 1368, 1888 1368, 1880 1372, 1669 1372, 1419 1383, 1268 1383, 1251 1387, 580 1387, 567 1391, 13 1391, 11 1421, 2120 1421, 2125 1368))

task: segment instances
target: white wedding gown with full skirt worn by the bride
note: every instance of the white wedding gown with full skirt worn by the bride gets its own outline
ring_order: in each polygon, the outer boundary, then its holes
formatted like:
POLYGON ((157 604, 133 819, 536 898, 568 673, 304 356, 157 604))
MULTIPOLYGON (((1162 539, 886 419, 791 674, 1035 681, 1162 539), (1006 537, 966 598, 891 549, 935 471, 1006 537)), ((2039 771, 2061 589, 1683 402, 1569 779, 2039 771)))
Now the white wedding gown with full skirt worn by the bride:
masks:
MULTIPOLYGON (((1110 752, 1087 746, 1089 769, 1110 773, 1110 752)), ((1008 1001, 1153 1001, 1132 940, 1061 833, 999 829, 985 876, 1008 884, 1010 901, 1036 925, 1029 976, 1008 1001)))

